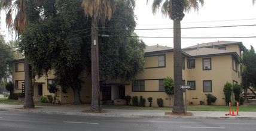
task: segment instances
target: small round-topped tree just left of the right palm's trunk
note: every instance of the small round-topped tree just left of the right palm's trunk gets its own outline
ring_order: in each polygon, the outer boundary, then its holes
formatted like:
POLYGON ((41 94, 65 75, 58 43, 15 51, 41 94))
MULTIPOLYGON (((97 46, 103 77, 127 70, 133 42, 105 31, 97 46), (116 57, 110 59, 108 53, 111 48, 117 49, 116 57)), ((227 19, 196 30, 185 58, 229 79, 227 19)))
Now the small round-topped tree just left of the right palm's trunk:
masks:
POLYGON ((169 95, 170 107, 172 106, 172 95, 174 94, 174 81, 172 77, 163 79, 164 92, 169 95))

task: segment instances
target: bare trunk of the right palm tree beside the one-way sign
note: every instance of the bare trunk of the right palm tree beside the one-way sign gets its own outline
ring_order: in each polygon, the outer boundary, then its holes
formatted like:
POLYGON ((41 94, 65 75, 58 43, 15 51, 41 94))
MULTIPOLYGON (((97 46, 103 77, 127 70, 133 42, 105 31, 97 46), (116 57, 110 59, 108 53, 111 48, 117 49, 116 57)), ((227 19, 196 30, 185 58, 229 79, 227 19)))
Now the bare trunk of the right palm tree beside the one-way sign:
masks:
POLYGON ((174 102, 173 113, 184 114, 182 85, 182 53, 181 53, 181 21, 173 20, 173 73, 174 73, 174 102))

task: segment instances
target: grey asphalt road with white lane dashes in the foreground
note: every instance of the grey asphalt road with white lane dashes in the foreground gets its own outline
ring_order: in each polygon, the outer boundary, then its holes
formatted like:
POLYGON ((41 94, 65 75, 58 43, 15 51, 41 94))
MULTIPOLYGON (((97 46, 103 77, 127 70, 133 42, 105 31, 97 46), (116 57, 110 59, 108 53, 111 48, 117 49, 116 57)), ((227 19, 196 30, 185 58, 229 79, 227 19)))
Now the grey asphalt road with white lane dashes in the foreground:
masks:
POLYGON ((0 111, 0 130, 256 130, 253 120, 112 118, 0 111))

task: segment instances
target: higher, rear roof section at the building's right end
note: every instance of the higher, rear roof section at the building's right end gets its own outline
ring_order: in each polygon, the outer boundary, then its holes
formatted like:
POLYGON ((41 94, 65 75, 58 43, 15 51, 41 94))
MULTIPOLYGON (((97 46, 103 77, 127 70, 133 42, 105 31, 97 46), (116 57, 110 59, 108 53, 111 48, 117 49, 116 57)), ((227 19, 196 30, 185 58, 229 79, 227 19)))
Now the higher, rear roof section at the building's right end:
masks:
POLYGON ((189 49, 197 49, 197 47, 212 48, 214 46, 218 47, 218 46, 227 46, 227 45, 239 45, 240 49, 242 51, 245 51, 245 47, 243 46, 242 42, 233 42, 233 41, 217 41, 217 42, 201 43, 201 44, 189 46, 187 48, 183 48, 182 50, 185 51, 185 50, 189 50, 189 49))

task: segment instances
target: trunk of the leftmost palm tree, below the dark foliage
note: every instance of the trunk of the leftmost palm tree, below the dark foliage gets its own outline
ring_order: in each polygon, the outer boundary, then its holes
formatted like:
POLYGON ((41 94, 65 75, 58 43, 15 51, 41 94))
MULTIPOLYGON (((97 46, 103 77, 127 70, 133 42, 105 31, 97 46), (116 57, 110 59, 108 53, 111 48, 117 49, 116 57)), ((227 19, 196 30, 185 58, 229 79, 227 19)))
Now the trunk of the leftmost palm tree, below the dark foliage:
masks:
POLYGON ((33 103, 33 92, 32 92, 32 72, 31 66, 28 64, 27 60, 24 63, 25 69, 25 102, 24 108, 34 108, 35 104, 33 103))

